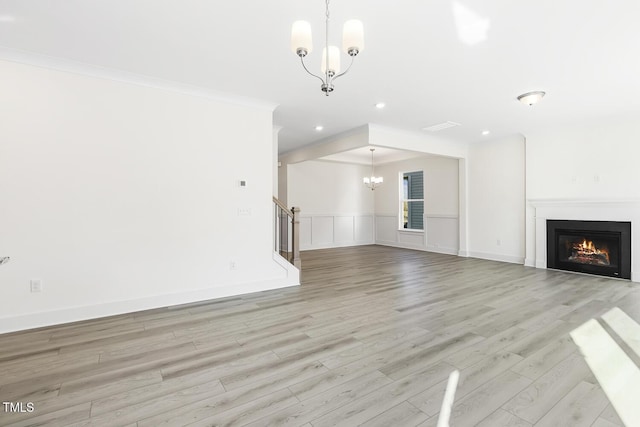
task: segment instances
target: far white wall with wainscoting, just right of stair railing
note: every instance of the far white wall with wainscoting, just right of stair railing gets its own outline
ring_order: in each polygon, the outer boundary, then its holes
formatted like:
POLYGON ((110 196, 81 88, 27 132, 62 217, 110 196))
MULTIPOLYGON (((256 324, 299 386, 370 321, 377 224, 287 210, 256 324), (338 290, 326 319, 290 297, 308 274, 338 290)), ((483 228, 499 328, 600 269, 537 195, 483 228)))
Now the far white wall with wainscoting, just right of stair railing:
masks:
POLYGON ((288 165, 287 203, 300 212, 300 249, 372 244, 370 167, 328 161, 288 165))

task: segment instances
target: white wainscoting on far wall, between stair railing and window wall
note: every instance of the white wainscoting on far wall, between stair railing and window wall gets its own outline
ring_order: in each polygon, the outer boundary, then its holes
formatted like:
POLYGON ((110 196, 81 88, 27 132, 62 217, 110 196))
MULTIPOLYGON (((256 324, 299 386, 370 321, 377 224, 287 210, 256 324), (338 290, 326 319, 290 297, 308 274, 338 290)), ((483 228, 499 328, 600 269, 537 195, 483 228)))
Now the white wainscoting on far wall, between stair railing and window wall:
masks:
POLYGON ((373 214, 300 216, 300 249, 372 245, 373 223, 373 214))

